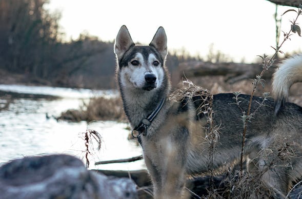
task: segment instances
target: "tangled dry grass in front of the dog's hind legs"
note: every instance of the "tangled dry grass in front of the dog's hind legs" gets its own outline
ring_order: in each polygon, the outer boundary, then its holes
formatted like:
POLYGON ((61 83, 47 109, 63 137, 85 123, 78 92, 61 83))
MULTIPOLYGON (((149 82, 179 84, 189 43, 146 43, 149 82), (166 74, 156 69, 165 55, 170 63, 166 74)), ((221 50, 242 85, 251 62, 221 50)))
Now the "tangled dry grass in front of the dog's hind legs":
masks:
POLYGON ((271 143, 269 148, 263 149, 255 157, 266 163, 257 166, 256 170, 244 171, 239 170, 227 174, 227 178, 223 181, 223 191, 219 196, 222 198, 275 198, 285 197, 279 190, 269 187, 265 184, 265 178, 260 180, 267 171, 274 170, 278 172, 278 168, 292 168, 293 158, 299 158, 295 151, 298 151, 300 145, 289 142, 286 137, 278 136, 271 143))

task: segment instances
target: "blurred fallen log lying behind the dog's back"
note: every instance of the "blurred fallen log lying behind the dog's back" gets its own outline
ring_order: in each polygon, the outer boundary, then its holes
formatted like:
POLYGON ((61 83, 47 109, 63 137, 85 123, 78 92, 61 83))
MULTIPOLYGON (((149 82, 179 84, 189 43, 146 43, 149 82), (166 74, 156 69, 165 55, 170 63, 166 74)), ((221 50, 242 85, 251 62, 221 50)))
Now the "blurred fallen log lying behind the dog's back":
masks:
MULTIPOLYGON (((271 67, 263 76, 265 79, 272 77, 273 69, 271 67)), ((210 63, 210 62, 184 62, 179 64, 179 70, 184 77, 224 75, 226 81, 230 84, 243 79, 255 78, 262 70, 261 64, 241 64, 241 63, 210 63)))

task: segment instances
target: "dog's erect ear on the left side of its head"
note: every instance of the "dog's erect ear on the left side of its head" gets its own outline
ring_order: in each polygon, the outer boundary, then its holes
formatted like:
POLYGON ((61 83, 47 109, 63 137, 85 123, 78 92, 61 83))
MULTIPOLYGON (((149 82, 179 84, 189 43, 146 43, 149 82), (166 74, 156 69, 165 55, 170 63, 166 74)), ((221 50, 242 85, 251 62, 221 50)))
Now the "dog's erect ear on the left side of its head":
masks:
POLYGON ((120 27, 114 45, 114 52, 117 57, 122 57, 124 53, 134 45, 130 33, 125 25, 120 27))

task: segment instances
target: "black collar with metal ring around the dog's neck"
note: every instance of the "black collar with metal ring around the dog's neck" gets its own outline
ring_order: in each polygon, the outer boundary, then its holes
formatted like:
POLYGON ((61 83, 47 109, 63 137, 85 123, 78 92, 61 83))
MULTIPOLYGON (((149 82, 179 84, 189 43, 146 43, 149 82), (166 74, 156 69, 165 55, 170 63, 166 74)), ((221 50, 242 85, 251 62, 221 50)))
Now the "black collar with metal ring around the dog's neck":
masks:
POLYGON ((160 111, 160 109, 162 109, 165 101, 166 101, 166 97, 164 97, 162 99, 162 101, 160 101, 160 103, 157 106, 157 108, 147 118, 144 118, 142 120, 142 122, 140 122, 132 130, 131 134, 132 134, 133 137, 138 138, 140 136, 140 134, 147 135, 147 129, 148 129, 148 127, 151 125, 152 121, 154 120, 154 118, 156 117, 156 115, 158 114, 158 112, 160 111), (137 131, 138 135, 137 136, 133 135, 133 131, 137 131))

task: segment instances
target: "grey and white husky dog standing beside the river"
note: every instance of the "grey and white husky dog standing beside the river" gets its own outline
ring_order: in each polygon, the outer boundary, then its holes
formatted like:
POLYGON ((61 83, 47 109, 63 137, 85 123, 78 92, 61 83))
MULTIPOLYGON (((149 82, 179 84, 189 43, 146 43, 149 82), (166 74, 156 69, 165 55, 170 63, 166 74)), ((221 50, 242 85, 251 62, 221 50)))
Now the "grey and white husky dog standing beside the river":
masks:
MULTIPOLYGON (((167 36, 163 27, 158 28, 149 46, 141 46, 133 43, 128 29, 122 26, 114 52, 124 110, 138 132, 154 197, 184 197, 186 176, 209 170, 207 115, 196 112, 200 106, 196 97, 184 97, 182 101, 169 99, 171 86, 165 67, 167 36)), ((253 97, 251 112, 257 111, 247 127, 244 155, 248 169, 263 171, 261 180, 276 190, 277 197, 283 197, 302 176, 302 108, 286 102, 290 86, 302 81, 302 55, 290 58, 279 68, 273 83, 276 104, 272 98, 264 101, 263 97, 253 97), (284 146, 292 151, 291 158, 288 154, 281 156, 284 146), (285 159, 286 164, 278 166, 285 159), (278 165, 272 168, 272 163, 278 165)), ((243 132, 240 116, 248 109, 249 99, 249 95, 239 95, 238 106, 234 94, 212 95, 213 122, 219 126, 220 136, 213 158, 214 169, 240 159, 243 132)))

